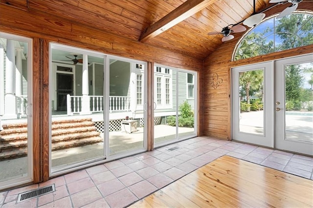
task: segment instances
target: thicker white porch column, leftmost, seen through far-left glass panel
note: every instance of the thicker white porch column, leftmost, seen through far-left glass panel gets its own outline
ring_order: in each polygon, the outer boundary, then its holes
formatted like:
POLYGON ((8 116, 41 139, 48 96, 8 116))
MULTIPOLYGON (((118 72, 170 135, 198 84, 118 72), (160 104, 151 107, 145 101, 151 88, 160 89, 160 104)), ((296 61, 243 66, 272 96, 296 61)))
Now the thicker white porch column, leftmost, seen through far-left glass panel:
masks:
POLYGON ((16 118, 15 102, 15 47, 13 40, 6 41, 5 109, 3 119, 16 118))

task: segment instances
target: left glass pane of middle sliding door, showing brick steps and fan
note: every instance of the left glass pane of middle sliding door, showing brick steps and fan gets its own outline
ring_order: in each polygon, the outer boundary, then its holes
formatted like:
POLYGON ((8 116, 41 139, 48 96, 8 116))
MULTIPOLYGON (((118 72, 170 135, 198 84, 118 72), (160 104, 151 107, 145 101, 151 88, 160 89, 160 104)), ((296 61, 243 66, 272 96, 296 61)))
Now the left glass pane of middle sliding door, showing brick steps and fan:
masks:
POLYGON ((105 156, 104 58, 63 48, 51 46, 52 173, 105 156))

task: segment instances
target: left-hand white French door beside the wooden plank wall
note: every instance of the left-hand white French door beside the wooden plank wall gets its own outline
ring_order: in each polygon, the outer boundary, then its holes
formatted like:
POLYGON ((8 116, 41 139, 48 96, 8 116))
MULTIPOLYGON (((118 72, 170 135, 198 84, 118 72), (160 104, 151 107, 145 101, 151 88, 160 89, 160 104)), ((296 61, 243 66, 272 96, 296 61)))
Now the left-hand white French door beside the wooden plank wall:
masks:
POLYGON ((232 75, 232 139, 274 146, 272 62, 235 67, 232 75))

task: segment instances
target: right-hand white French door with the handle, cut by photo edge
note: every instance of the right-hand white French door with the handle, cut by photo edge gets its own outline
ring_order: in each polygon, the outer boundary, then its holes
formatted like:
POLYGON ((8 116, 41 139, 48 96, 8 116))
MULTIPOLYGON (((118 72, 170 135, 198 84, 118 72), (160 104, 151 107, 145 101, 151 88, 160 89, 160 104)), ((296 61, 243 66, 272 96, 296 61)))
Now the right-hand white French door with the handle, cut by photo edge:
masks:
POLYGON ((313 55, 276 62, 277 148, 313 155, 313 55))

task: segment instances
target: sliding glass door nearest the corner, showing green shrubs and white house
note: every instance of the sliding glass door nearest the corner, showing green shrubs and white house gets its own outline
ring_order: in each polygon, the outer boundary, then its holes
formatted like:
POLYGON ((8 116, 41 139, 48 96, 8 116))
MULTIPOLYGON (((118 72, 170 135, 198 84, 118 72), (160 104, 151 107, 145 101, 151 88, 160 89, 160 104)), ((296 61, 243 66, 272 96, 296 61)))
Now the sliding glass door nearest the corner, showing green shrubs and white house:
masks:
POLYGON ((197 73, 156 65, 154 77, 155 146, 195 136, 197 73))

